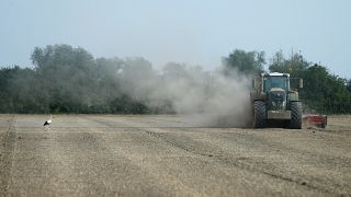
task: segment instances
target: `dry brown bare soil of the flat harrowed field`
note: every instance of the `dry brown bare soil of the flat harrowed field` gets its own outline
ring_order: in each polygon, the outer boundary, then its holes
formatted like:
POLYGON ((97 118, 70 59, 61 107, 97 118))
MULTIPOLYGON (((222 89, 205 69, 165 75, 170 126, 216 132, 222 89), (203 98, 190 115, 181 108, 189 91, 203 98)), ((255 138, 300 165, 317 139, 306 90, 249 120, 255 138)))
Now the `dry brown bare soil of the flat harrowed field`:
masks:
POLYGON ((47 117, 0 115, 0 196, 351 196, 351 116, 301 130, 47 117))

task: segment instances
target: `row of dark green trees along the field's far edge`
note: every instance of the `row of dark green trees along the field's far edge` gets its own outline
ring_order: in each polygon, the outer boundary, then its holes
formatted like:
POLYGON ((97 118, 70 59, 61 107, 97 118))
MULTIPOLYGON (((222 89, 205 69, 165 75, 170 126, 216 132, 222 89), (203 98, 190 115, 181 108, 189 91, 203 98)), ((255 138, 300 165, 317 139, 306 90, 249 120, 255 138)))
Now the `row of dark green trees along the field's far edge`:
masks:
MULTIPOLYGON (((170 100, 149 105, 143 86, 156 78, 192 78, 182 63, 170 62, 157 71, 141 57, 94 58, 86 49, 70 45, 36 47, 31 59, 33 68, 0 69, 0 113, 174 113, 170 100)), ((304 79, 299 93, 306 111, 351 112, 351 80, 308 62, 298 53, 286 58, 278 51, 267 59, 264 51, 235 49, 223 58, 220 72, 228 78, 231 72, 250 76, 264 71, 265 65, 269 71, 304 79)), ((192 69, 206 72, 199 67, 192 69)))

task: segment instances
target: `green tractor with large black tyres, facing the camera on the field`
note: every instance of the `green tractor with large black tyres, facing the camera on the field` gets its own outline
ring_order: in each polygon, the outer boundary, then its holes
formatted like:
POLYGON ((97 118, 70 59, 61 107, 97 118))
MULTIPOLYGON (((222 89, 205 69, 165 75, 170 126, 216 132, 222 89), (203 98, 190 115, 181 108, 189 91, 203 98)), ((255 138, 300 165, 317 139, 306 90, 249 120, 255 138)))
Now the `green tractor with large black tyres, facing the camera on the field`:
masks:
MULTIPOLYGON (((254 128, 264 128, 270 123, 292 129, 302 128, 302 102, 297 90, 291 89, 292 79, 288 73, 272 72, 252 80, 250 97, 254 128)), ((303 88, 302 79, 298 79, 298 88, 303 88)))

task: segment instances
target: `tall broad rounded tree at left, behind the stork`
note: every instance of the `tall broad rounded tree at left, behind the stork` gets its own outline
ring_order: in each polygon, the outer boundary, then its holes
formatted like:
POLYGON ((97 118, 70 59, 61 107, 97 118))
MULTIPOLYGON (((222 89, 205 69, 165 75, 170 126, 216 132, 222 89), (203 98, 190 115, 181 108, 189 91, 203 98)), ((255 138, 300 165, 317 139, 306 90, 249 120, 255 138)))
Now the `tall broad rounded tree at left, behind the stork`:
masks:
POLYGON ((43 105, 50 112, 81 112, 98 97, 95 61, 82 48, 69 45, 36 47, 32 61, 38 74, 43 105))

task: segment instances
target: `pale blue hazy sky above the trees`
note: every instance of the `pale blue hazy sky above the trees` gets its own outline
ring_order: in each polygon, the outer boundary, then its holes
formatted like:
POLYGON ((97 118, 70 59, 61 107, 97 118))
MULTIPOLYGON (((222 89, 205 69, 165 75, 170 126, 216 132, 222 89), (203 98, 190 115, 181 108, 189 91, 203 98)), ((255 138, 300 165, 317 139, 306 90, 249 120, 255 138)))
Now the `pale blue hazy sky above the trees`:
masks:
POLYGON ((52 44, 206 69, 235 48, 282 49, 351 78, 350 0, 0 0, 0 25, 2 67, 52 44))

